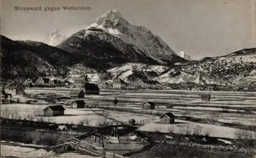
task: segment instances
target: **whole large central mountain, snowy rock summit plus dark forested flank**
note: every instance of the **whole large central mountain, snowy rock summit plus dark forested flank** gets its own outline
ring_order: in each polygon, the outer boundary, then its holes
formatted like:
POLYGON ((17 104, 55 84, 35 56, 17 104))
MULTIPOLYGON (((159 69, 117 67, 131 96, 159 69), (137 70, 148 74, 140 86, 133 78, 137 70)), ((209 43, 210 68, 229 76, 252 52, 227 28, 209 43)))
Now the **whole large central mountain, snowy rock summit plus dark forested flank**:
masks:
POLYGON ((98 17, 86 30, 77 32, 57 47, 97 62, 166 64, 186 61, 159 36, 145 27, 131 25, 117 10, 98 17))

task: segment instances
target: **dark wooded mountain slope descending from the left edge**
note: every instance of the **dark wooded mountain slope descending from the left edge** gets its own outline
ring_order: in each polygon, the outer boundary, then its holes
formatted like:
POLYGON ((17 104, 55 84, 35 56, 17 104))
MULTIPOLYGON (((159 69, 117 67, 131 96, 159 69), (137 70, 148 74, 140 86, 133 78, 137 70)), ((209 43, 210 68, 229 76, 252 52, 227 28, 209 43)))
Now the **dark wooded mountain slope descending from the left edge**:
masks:
POLYGON ((1 35, 2 78, 31 76, 46 73, 52 65, 23 44, 1 35))

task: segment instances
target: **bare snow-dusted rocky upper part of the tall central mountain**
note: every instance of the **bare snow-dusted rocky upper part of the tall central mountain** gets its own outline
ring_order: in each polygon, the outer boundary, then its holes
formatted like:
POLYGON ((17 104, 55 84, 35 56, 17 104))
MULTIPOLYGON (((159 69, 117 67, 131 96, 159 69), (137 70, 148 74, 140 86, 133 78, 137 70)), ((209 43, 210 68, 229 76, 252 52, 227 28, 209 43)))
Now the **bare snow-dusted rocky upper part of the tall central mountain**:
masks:
POLYGON ((95 33, 97 29, 118 37, 133 46, 138 53, 143 52, 159 63, 166 63, 169 59, 177 58, 175 57, 177 54, 158 35, 154 35, 145 26, 130 24, 116 9, 99 16, 92 25, 86 28, 87 33, 82 36, 86 36, 90 31, 95 33))

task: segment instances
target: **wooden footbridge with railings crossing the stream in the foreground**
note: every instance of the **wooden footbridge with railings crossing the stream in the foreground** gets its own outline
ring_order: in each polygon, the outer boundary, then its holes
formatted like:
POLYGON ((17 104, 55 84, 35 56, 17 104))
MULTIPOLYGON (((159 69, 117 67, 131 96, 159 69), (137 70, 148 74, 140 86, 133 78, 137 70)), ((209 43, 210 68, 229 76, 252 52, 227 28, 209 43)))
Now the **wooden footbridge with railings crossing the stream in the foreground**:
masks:
MULTIPOLYGON (((92 134, 98 132, 99 130, 105 128, 105 127, 109 127, 109 126, 115 126, 115 127, 123 127, 123 126, 141 126, 143 124, 149 123, 150 119, 144 119, 141 121, 137 121, 135 123, 131 123, 131 122, 108 122, 108 123, 104 123, 104 124, 98 124, 95 125, 94 127, 96 127, 93 130, 90 130, 80 136, 77 137, 72 137, 72 138, 63 138, 65 139, 65 143, 61 144, 61 145, 57 145, 57 146, 63 146, 63 148, 65 149, 76 149, 76 150, 81 150, 96 156, 102 156, 104 158, 114 158, 114 157, 118 157, 118 158, 125 158, 125 156, 113 153, 113 152, 108 152, 105 151, 105 149, 103 147, 99 147, 90 143, 87 143, 85 141, 80 140, 81 138, 86 138, 88 136, 91 136, 92 134)), ((55 147, 57 147, 55 146, 55 147)), ((129 158, 129 157, 126 157, 129 158)))

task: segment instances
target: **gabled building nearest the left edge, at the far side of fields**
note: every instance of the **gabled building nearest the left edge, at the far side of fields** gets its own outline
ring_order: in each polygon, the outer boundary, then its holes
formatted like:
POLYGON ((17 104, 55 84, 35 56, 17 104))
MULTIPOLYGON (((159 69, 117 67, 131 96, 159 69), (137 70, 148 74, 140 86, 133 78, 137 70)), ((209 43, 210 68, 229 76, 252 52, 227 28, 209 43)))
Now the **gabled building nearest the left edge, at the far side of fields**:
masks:
POLYGON ((8 83, 4 86, 4 90, 6 94, 11 95, 24 95, 25 94, 25 86, 22 83, 8 83))

